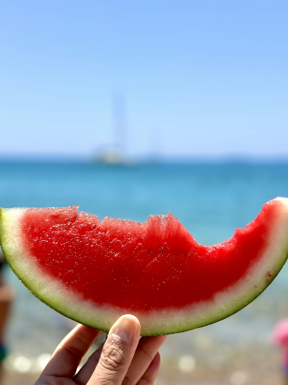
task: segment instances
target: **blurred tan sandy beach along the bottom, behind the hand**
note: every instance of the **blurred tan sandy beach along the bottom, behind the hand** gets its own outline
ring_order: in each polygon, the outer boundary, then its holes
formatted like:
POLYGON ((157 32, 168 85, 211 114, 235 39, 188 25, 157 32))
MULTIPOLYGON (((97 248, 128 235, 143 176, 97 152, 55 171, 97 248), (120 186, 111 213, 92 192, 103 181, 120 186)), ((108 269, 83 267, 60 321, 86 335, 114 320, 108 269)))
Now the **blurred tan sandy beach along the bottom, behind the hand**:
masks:
MULTIPOLYGON (((279 354, 258 346, 226 352, 220 349, 197 356, 167 357, 161 362, 157 385, 281 385, 279 354), (212 354, 211 354, 212 353, 212 354), (211 357, 214 357, 211 360, 211 357), (210 362, 208 362, 210 360, 210 362)), ((3 385, 33 385, 39 373, 17 373, 6 369, 3 385)))

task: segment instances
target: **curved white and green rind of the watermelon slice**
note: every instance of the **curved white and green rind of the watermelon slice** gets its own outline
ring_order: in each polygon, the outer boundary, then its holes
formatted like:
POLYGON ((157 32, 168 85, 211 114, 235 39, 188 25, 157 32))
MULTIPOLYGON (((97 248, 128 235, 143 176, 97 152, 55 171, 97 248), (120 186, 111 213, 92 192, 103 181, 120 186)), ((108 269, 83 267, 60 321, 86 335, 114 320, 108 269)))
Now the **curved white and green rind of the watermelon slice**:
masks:
POLYGON ((69 292, 58 281, 47 279, 33 257, 27 258, 27 251, 22 246, 20 220, 24 208, 2 209, 1 244, 18 278, 36 297, 61 314, 85 325, 109 330, 119 316, 131 313, 139 318, 141 335, 177 333, 209 325, 232 315, 260 295, 278 274, 288 255, 288 199, 277 198, 270 202, 277 205, 278 216, 268 236, 268 247, 260 260, 251 266, 241 280, 216 293, 213 301, 202 301, 180 309, 166 308, 142 313, 110 305, 96 307, 78 294, 69 292))

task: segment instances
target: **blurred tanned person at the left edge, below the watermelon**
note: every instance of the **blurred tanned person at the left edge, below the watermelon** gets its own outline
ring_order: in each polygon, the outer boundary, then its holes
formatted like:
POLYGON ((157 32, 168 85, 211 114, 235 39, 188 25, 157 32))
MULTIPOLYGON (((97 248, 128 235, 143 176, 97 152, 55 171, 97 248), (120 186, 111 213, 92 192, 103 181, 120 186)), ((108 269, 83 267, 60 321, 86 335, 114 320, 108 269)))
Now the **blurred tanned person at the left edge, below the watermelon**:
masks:
POLYGON ((3 365, 2 361, 6 357, 5 333, 10 309, 14 298, 14 292, 9 285, 5 283, 3 277, 3 266, 6 261, 0 249, 0 385, 3 383, 3 365))

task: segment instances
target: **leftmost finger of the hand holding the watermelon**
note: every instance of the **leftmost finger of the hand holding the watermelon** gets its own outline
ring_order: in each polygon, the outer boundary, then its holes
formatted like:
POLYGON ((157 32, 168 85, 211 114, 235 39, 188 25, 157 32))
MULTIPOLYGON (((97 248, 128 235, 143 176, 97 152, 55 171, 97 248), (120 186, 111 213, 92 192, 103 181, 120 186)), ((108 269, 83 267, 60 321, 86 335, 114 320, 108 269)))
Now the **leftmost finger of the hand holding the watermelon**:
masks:
POLYGON ((101 330, 77 325, 57 346, 41 375, 73 377, 82 357, 100 333, 101 330))

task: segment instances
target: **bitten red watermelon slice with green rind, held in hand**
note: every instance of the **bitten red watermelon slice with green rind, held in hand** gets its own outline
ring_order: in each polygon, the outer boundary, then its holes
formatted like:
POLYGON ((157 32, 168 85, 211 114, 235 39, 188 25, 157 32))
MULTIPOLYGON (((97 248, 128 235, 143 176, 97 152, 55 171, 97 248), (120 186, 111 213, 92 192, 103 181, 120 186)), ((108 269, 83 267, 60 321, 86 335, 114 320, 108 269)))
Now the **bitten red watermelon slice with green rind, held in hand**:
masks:
POLYGON ((2 209, 0 242, 18 278, 59 313, 102 330, 131 313, 142 335, 177 333, 232 315, 271 283, 288 256, 288 199, 214 246, 170 213, 100 223, 77 206, 2 209))

